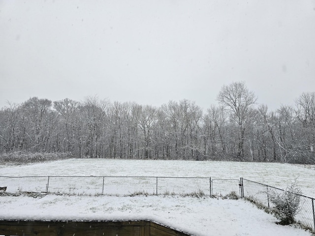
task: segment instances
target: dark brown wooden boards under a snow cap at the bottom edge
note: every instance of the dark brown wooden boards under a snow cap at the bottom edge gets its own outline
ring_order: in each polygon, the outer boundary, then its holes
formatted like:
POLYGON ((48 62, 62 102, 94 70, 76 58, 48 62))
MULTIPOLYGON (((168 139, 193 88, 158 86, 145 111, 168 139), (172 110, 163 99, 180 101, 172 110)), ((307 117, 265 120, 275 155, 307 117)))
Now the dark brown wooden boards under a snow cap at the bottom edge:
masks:
POLYGON ((0 235, 189 236, 150 221, 1 221, 0 235))

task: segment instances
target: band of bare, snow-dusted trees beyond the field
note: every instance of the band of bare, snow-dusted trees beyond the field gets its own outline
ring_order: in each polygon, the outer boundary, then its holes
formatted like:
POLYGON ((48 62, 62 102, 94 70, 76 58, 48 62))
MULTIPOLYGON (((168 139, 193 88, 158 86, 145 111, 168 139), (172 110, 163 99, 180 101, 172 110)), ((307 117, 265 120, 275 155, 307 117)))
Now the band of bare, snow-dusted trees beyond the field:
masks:
POLYGON ((153 107, 32 97, 0 110, 0 153, 315 163, 315 92, 269 111, 236 82, 223 86, 217 101, 204 113, 189 100, 153 107))

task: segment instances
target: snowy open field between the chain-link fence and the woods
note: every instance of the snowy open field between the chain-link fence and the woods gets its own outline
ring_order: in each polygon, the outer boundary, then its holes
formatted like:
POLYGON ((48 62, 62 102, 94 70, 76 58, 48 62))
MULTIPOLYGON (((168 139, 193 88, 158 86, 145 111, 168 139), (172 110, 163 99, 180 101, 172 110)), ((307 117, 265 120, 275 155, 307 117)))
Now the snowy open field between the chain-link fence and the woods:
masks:
POLYGON ((278 188, 295 178, 303 195, 315 197, 315 166, 222 161, 68 159, 25 166, 0 166, 0 176, 244 177, 278 188))

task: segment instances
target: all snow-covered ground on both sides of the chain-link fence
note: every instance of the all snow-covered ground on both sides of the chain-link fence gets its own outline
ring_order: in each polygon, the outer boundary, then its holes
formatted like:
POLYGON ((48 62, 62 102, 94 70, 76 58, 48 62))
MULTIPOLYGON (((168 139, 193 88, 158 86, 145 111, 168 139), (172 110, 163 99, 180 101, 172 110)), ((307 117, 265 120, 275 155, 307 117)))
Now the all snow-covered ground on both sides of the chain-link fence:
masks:
MULTIPOLYGON (((298 177, 314 197, 314 166, 274 163, 70 159, 25 166, 0 166, 0 176, 244 177, 285 188, 298 177)), ((118 183, 119 184, 119 183, 118 183)), ((1 185, 1 184, 0 184, 1 185)), ((1 219, 152 220, 195 236, 310 236, 244 200, 182 196, 0 197, 1 219)))

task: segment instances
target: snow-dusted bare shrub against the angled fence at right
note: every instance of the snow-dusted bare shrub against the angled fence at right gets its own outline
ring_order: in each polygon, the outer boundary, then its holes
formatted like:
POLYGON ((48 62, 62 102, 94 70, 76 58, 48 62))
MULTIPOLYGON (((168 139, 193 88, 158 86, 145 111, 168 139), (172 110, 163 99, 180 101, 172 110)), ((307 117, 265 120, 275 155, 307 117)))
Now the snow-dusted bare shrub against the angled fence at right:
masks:
POLYGON ((294 223, 294 216, 299 211, 301 189, 295 179, 284 191, 269 190, 270 201, 274 204, 274 212, 281 220, 279 224, 288 225, 294 223))

